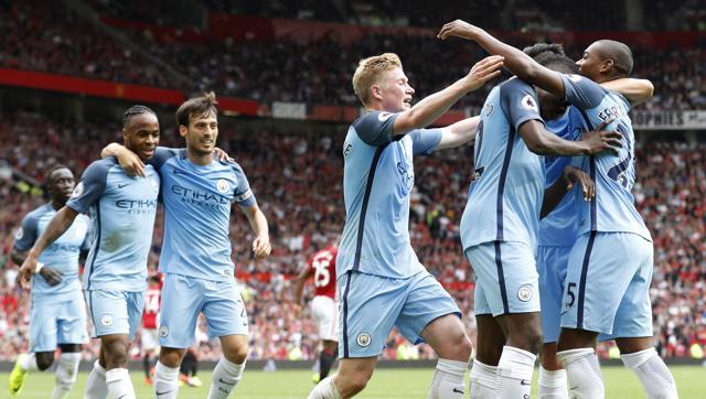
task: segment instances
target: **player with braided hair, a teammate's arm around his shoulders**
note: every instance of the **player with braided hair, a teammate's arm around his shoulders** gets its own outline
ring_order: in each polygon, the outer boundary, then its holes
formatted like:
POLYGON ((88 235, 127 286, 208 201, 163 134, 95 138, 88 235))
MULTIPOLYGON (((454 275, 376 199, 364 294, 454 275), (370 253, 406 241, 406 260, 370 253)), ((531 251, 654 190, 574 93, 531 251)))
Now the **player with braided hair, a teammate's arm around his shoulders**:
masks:
MULTIPOLYGON (((148 160, 159 142, 157 115, 143 106, 122 116, 125 145, 148 160)), ((145 177, 132 177, 115 158, 93 162, 66 206, 50 222, 20 270, 26 283, 38 257, 66 231, 79 214, 89 214, 94 240, 84 271, 84 290, 100 338, 100 357, 86 382, 85 398, 135 398, 127 369, 128 347, 135 338, 145 308, 147 256, 152 242, 160 177, 147 168, 145 177)), ((83 305, 83 304, 82 304, 83 305)))

